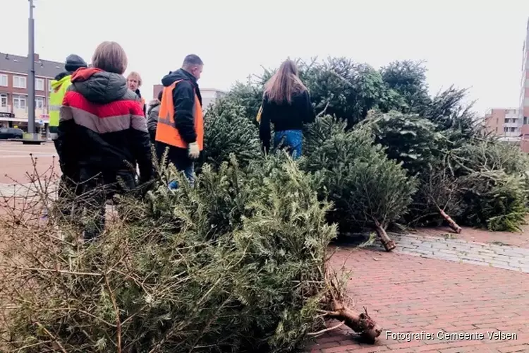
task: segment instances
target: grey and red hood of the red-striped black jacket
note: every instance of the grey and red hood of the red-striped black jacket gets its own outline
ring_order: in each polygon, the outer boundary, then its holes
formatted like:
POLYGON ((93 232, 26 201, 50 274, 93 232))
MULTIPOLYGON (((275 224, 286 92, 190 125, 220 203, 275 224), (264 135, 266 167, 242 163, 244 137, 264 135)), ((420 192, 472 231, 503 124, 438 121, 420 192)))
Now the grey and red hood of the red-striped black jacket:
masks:
POLYGON ((75 90, 87 100, 99 104, 114 102, 128 90, 126 78, 100 68, 80 68, 73 73, 71 81, 75 90))

